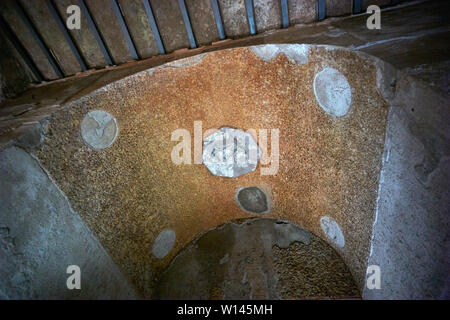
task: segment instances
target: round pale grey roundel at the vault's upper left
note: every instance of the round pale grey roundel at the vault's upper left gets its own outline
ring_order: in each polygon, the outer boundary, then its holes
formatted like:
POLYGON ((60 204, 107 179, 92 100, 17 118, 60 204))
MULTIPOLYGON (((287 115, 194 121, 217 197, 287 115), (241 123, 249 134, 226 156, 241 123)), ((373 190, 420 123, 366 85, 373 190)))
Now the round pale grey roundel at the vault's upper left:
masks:
POLYGON ((81 137, 92 149, 108 148, 117 138, 116 119, 103 110, 89 111, 81 122, 81 137))

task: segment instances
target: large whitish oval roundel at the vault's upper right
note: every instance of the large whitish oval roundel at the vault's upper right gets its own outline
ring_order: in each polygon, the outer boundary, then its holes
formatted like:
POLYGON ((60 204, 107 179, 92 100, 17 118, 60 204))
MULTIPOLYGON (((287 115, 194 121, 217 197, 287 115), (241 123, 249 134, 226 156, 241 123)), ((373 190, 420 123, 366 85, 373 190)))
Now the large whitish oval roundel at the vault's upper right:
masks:
POLYGON ((314 95, 320 107, 333 117, 345 116, 352 103, 352 91, 347 78, 333 68, 325 68, 316 74, 314 95))

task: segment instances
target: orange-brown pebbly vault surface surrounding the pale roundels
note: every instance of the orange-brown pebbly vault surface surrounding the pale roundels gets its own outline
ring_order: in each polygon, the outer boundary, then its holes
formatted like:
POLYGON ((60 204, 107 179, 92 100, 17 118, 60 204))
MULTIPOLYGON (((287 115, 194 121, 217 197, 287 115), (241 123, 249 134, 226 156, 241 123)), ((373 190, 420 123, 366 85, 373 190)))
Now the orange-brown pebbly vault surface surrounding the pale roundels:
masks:
MULTIPOLYGON (((145 296, 199 233, 260 215, 290 220, 329 241, 362 289, 387 112, 376 67, 354 52, 238 48, 169 63, 89 94, 52 115, 33 153, 145 296), (334 80, 321 81, 330 70, 334 80), (327 106, 341 109, 333 114, 327 106), (115 140, 105 149, 86 144, 80 131, 93 110, 116 119, 117 137, 111 133, 115 140), (271 163, 261 159, 237 178, 194 163, 201 150, 194 131, 207 136, 207 129, 222 127, 254 129, 260 147, 267 130, 269 147, 262 149, 271 163), (184 162, 191 164, 172 159, 182 139, 191 152, 184 162), (270 212, 251 214, 236 202, 240 188, 253 186, 269 199, 270 212), (174 232, 173 248, 157 258, 152 247, 165 229, 174 232)), ((107 134, 98 123, 96 130, 107 134)))

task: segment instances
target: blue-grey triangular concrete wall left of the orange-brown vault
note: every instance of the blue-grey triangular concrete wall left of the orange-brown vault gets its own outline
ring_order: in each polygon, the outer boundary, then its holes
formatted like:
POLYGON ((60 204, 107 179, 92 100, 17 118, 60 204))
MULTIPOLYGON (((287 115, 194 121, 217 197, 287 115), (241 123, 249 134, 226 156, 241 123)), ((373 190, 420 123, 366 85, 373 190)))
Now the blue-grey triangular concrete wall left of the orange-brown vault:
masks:
POLYGON ((133 287, 39 163, 17 147, 0 153, 0 298, 129 299, 133 287), (66 269, 81 269, 68 290, 66 269))

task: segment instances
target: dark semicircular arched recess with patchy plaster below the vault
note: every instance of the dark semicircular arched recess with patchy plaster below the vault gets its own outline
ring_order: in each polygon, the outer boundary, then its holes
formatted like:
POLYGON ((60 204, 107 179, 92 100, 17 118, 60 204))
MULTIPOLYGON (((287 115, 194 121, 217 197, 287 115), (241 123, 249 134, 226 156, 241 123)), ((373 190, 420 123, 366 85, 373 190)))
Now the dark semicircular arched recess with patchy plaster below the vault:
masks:
POLYGON ((158 282, 158 299, 358 297, 329 245, 285 221, 252 219, 206 232, 179 253, 158 282))

